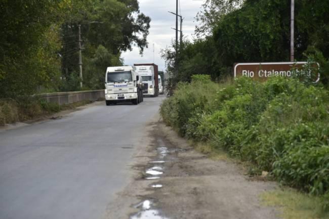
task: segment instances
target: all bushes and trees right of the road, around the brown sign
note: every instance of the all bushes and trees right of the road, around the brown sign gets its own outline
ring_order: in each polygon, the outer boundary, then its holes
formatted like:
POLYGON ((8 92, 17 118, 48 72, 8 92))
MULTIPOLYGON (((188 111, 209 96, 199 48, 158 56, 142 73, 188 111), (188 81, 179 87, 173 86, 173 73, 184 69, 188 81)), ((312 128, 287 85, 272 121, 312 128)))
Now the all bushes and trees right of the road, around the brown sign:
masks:
POLYGON ((196 37, 184 39, 177 52, 162 51, 171 78, 160 113, 198 150, 220 157, 226 151, 251 163, 251 174, 267 171, 317 202, 305 218, 327 218, 319 212, 329 210, 329 2, 295 2, 295 60, 319 63, 319 71, 312 69, 320 73, 318 84, 232 76, 234 63, 290 60, 290 7, 284 0, 204 1, 196 37))

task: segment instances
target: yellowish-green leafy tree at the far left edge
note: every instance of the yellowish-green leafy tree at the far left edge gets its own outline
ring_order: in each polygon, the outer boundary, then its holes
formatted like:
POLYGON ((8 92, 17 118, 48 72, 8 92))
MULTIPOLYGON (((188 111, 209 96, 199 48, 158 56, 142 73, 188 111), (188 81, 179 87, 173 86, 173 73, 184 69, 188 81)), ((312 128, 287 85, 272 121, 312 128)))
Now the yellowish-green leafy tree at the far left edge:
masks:
POLYGON ((58 23, 65 1, 0 3, 0 98, 34 93, 59 72, 58 23))

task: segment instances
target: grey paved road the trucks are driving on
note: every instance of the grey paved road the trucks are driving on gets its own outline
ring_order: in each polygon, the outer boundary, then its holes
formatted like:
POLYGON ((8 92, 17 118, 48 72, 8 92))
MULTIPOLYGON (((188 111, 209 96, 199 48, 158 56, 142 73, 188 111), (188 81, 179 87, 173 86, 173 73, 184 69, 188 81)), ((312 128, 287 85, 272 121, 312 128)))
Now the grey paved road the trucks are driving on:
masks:
POLYGON ((102 218, 131 179, 134 146, 162 99, 104 103, 0 132, 0 218, 102 218))

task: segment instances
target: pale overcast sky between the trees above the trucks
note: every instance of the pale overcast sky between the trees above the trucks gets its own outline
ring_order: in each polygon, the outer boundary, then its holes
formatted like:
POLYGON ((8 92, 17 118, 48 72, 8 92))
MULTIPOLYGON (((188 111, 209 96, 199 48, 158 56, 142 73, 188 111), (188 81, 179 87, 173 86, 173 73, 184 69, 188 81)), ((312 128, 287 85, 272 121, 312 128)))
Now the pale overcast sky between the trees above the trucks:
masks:
MULTIPOLYGON (((183 20, 183 35, 192 39, 195 27, 195 16, 201 10, 203 1, 180 0, 181 14, 183 20)), ((160 50, 171 45, 171 40, 175 39, 176 16, 168 11, 176 13, 176 0, 139 0, 140 11, 151 18, 150 33, 147 36, 149 43, 145 48, 143 56, 139 55, 138 48, 122 54, 125 65, 134 63, 153 63, 153 43, 154 43, 154 63, 159 66, 159 70, 166 70, 165 60, 160 57, 160 50)), ((179 10, 179 9, 178 9, 179 10)), ((178 12, 179 13, 179 12, 178 12)), ((179 17, 178 17, 178 21, 179 17)), ((179 23, 180 24, 180 23, 179 23)), ((180 26, 178 26, 180 28, 180 26)), ((178 35, 179 38, 180 35, 178 35)))

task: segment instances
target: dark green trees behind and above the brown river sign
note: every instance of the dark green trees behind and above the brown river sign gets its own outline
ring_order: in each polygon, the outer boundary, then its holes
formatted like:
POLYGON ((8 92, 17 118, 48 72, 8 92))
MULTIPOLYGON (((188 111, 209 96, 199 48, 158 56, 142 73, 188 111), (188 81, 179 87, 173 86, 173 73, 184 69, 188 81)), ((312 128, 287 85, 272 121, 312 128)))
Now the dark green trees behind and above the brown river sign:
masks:
MULTIPOLYGON (((311 5, 307 0, 295 3, 295 59, 318 62, 321 82, 328 87, 329 2, 311 5)), ((201 38, 183 41, 177 54, 162 52, 173 73, 169 95, 179 81, 190 82, 193 74, 221 81, 232 77, 234 63, 289 61, 290 7, 284 0, 205 1, 196 17, 201 25, 195 33, 201 38)))

